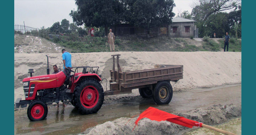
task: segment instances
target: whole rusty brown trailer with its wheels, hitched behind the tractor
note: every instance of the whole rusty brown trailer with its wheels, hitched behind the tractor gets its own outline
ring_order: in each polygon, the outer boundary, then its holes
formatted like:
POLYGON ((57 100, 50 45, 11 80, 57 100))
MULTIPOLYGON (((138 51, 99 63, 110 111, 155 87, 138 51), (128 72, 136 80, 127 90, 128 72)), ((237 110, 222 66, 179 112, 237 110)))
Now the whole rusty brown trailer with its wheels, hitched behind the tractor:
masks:
POLYGON ((154 69, 123 72, 119 65, 120 55, 111 55, 113 69, 110 70, 110 90, 104 92, 104 95, 132 93, 132 89, 138 88, 143 98, 153 97, 156 104, 169 104, 173 94, 170 81, 177 82, 183 79, 183 65, 162 65, 154 69))

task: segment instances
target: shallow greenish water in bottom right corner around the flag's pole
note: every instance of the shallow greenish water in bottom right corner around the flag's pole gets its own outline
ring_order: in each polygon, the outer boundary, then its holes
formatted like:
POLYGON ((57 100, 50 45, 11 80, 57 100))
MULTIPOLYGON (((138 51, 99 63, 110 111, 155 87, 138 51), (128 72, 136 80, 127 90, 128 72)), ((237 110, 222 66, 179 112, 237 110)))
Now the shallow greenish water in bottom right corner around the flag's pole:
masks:
MULTIPOLYGON (((231 119, 226 123, 216 125, 213 127, 219 128, 225 131, 229 131, 237 135, 241 135, 242 134, 242 118, 240 117, 240 118, 231 119)), ((224 134, 214 130, 207 129, 207 128, 196 128, 196 129, 187 131, 182 135, 224 135, 224 134)))

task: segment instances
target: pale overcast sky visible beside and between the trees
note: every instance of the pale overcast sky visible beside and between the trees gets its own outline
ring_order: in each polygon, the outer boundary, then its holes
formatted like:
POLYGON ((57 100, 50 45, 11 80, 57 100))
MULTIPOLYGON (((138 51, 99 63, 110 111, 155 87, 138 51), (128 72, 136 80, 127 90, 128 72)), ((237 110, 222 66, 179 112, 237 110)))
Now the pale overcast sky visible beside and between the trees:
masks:
MULTIPOLYGON (((185 10, 191 13, 191 4, 195 0, 174 0, 175 17, 185 10)), ((71 10, 76 10, 75 0, 14 0, 14 24, 23 24, 34 28, 48 28, 62 19, 73 23, 69 16, 71 10)))

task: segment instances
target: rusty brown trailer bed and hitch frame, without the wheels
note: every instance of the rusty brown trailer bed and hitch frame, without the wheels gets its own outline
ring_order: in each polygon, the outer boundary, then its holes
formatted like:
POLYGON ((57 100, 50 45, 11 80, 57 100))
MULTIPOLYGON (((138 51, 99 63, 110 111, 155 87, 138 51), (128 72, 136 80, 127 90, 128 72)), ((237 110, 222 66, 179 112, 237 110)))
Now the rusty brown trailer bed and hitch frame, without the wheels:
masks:
POLYGON ((113 69, 110 70, 110 90, 104 95, 131 93, 132 89, 153 87, 159 81, 174 81, 183 78, 183 65, 163 65, 154 69, 122 72, 119 66, 120 54, 111 55, 113 57, 113 69), (115 70, 114 57, 117 56, 117 70, 115 70))

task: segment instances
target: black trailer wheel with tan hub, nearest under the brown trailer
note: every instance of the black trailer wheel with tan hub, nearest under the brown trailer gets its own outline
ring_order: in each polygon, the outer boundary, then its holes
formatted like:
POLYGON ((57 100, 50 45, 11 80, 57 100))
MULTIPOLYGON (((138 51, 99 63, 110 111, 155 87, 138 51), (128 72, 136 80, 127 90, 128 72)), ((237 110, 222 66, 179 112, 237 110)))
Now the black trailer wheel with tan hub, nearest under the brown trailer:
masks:
POLYGON ((169 104, 172 99, 172 86, 170 82, 161 81, 156 84, 153 99, 158 105, 169 104))

